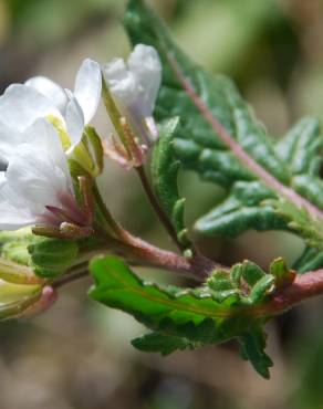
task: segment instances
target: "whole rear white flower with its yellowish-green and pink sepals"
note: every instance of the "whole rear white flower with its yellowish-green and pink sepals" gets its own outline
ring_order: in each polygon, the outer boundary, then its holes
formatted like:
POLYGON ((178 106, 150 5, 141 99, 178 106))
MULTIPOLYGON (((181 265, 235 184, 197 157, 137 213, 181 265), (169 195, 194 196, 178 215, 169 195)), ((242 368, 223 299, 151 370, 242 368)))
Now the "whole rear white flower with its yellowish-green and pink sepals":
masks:
POLYGON ((153 111, 160 81, 158 54, 148 45, 136 45, 127 63, 114 59, 103 66, 103 99, 113 125, 105 154, 124 167, 142 166, 158 137, 153 111))

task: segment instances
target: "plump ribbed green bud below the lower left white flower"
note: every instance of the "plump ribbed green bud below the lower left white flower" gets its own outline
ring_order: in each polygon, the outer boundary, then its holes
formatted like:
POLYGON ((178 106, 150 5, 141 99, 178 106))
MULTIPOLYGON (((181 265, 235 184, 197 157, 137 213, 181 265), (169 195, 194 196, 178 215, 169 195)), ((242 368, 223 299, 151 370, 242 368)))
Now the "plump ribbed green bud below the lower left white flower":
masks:
POLYGON ((79 254, 77 243, 60 239, 42 239, 29 245, 31 266, 42 279, 55 279, 64 274, 79 254))

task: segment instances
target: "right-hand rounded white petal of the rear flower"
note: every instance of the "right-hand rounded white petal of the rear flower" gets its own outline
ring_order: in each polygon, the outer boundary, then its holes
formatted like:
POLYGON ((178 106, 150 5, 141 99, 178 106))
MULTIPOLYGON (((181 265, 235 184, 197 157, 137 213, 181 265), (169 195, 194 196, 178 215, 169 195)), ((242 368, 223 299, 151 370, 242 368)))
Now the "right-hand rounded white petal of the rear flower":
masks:
POLYGON ((144 90, 144 116, 150 116, 162 82, 162 64, 157 51, 149 45, 138 44, 129 55, 128 66, 144 90))

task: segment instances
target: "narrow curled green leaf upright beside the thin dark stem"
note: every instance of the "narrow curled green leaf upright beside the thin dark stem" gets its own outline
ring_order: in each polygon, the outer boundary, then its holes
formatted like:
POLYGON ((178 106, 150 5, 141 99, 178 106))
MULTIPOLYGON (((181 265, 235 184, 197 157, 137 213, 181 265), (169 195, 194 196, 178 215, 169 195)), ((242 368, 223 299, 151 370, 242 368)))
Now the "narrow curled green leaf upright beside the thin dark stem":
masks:
POLYGON ((188 245, 187 230, 184 223, 185 199, 179 197, 177 174, 179 161, 174 158, 173 141, 179 118, 173 118, 159 126, 159 138, 154 146, 152 158, 152 180, 158 200, 170 219, 178 240, 188 245))

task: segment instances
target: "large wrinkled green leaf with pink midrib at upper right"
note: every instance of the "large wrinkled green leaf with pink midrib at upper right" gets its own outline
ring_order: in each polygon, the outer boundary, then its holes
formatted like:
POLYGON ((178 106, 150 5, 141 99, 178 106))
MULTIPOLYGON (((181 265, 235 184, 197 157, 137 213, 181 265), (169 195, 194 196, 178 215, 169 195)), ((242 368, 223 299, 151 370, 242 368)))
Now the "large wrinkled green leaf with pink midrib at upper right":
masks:
POLYGON ((155 116, 159 120, 180 116, 174 155, 184 167, 227 191, 223 201, 197 221, 196 229, 230 237, 247 229, 292 230, 317 247, 323 241, 320 231, 314 234, 319 240, 309 237, 295 229, 288 214, 277 212, 270 204, 273 201, 265 200, 281 199, 281 192, 288 191, 289 198, 296 196, 322 217, 319 122, 304 118, 274 143, 235 84, 191 62, 145 1, 131 0, 124 22, 134 44, 150 44, 159 52, 164 70, 155 116))

